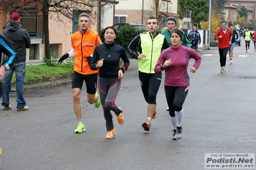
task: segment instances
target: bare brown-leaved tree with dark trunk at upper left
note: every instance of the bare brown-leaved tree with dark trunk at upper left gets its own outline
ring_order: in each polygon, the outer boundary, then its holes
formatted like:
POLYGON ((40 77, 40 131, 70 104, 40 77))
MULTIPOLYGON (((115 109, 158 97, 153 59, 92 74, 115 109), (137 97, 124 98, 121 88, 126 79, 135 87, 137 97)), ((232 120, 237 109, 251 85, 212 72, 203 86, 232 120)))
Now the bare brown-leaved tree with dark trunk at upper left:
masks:
POLYGON ((51 50, 49 43, 49 16, 56 22, 63 22, 65 19, 74 21, 77 13, 86 12, 92 15, 93 20, 97 18, 92 13, 93 7, 99 5, 99 0, 0 0, 0 12, 22 12, 26 13, 33 9, 35 12, 43 13, 44 17, 44 42, 45 42, 45 59, 47 64, 51 64, 51 50), (61 14, 61 15, 60 15, 61 14))

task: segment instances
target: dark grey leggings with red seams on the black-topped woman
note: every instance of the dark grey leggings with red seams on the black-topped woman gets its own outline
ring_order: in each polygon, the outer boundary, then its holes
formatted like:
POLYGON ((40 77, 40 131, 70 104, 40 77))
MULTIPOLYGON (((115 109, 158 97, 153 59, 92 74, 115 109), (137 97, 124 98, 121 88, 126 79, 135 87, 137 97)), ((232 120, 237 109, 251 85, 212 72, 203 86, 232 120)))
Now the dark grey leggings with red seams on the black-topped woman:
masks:
POLYGON ((99 77, 99 94, 100 102, 102 105, 104 118, 106 120, 107 131, 114 128, 113 116, 110 111, 115 112, 116 115, 122 112, 118 106, 115 104, 116 96, 121 86, 121 80, 116 79, 106 79, 99 77))

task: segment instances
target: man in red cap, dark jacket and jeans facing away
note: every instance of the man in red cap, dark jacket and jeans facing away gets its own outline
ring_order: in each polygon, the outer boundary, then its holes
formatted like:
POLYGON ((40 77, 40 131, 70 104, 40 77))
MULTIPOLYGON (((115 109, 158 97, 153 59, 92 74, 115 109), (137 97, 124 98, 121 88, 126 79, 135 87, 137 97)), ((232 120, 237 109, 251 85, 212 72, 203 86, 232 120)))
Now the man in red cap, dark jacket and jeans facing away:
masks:
POLYGON ((26 49, 29 49, 31 42, 28 31, 26 29, 22 29, 20 26, 20 19, 22 19, 22 17, 20 17, 19 13, 12 13, 12 15, 10 15, 10 24, 6 29, 4 29, 3 33, 13 50, 16 52, 16 58, 13 66, 4 74, 4 90, 2 97, 2 105, 4 107, 3 111, 12 109, 9 102, 9 93, 12 89, 11 81, 14 71, 16 74, 17 111, 28 111, 26 100, 23 97, 23 86, 26 77, 26 49))

